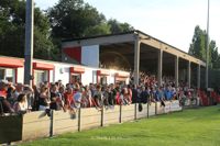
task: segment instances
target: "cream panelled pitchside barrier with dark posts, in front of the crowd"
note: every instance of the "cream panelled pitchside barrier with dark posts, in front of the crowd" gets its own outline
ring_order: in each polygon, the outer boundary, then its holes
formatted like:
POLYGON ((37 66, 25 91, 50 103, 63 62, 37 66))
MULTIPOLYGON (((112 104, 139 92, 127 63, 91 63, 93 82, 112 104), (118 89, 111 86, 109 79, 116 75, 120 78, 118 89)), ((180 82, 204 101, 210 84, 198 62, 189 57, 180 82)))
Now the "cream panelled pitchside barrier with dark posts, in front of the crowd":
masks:
POLYGON ((24 115, 0 116, 0 144, 80 132, 182 110, 178 101, 165 104, 166 106, 162 106, 161 102, 142 104, 141 111, 139 104, 131 104, 114 105, 100 111, 95 108, 79 109, 76 114, 52 111, 51 116, 47 116, 45 112, 38 111, 24 115))

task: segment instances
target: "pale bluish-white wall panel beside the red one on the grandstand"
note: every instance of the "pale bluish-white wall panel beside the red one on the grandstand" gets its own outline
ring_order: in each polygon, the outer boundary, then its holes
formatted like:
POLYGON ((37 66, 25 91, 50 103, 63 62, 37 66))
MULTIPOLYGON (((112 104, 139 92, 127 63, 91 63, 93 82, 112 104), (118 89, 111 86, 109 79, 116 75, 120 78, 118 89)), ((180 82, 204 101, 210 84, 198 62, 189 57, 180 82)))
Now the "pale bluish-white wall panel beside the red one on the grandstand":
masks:
POLYGON ((99 67, 99 45, 81 47, 81 64, 89 67, 99 67))

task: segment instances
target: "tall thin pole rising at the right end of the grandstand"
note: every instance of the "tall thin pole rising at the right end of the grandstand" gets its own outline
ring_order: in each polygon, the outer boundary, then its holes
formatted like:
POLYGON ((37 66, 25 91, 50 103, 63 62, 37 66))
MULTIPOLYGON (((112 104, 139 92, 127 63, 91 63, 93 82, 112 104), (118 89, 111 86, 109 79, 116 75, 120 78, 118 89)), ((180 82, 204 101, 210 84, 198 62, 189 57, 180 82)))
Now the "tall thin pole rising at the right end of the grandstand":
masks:
POLYGON ((209 0, 208 0, 208 15, 207 15, 207 58, 206 58, 206 89, 209 88, 209 0))

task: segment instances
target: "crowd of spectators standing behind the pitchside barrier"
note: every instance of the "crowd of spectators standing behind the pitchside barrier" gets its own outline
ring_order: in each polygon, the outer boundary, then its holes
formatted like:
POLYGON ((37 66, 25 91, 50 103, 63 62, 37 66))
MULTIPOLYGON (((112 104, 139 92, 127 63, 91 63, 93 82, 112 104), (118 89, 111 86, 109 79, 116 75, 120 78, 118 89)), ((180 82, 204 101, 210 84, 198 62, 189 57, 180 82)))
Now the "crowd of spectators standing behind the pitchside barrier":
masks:
POLYGON ((0 81, 0 113, 25 113, 30 111, 63 110, 76 112, 79 108, 97 110, 113 109, 116 104, 151 103, 190 98, 191 92, 186 83, 175 87, 173 78, 163 78, 158 86, 155 76, 140 74, 140 85, 111 83, 84 86, 81 82, 63 85, 41 82, 40 86, 12 85, 0 81))

